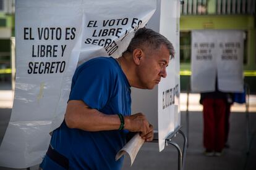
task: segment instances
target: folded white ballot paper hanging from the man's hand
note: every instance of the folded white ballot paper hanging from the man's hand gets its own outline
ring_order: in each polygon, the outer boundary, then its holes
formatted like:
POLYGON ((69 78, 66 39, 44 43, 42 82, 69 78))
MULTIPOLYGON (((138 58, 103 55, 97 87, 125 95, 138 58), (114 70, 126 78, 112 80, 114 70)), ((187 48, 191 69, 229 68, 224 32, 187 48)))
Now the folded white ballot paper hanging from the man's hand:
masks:
POLYGON ((128 155, 130 156, 130 166, 132 166, 135 157, 139 152, 140 147, 142 147, 142 145, 144 144, 144 142, 145 140, 142 139, 142 137, 140 137, 139 133, 135 134, 135 136, 132 137, 132 139, 130 139, 129 142, 127 142, 127 144, 124 145, 124 147, 121 150, 119 150, 119 152, 116 154, 116 160, 119 160, 119 158, 121 158, 122 155, 128 153, 128 155))

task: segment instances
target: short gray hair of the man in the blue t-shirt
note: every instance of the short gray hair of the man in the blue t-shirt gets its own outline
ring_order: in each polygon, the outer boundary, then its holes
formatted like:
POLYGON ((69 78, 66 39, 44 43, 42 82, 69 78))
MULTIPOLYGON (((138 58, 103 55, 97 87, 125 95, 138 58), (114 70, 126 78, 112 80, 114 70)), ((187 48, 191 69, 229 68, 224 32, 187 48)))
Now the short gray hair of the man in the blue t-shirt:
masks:
MULTIPOLYGON (((157 33, 149 28, 140 28, 134 34, 134 38, 130 41, 129 46, 127 47, 124 53, 132 53, 135 49, 143 47, 148 47, 150 50, 158 50, 161 45, 165 45, 169 50, 171 58, 174 57, 174 47, 171 42, 165 38, 162 34, 157 33)), ((123 53, 123 54, 124 54, 123 53)))

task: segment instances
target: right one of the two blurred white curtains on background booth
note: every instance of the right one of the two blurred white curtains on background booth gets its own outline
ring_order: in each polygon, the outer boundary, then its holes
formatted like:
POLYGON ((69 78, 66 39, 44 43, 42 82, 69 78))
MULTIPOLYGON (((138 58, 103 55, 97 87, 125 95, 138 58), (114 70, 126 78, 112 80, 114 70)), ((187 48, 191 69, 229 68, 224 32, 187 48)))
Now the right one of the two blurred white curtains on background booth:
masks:
POLYGON ((223 30, 218 32, 218 87, 223 92, 243 92, 244 32, 223 30))

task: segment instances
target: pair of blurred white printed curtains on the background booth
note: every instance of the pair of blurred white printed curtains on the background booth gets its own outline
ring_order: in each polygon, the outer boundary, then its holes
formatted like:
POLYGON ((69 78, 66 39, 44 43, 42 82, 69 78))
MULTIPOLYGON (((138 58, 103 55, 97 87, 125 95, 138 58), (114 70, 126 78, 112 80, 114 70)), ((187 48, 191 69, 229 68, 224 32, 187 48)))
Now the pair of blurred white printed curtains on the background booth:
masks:
POLYGON ((215 91, 217 78, 220 91, 243 91, 243 31, 194 30, 191 48, 192 91, 215 91))

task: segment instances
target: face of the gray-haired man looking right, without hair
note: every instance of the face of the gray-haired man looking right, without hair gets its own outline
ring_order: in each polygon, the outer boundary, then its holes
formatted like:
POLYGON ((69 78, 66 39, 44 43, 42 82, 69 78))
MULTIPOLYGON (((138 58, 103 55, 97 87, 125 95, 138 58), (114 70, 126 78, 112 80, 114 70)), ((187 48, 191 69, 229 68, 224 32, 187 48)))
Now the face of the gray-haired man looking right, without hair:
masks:
POLYGON ((166 67, 169 64, 169 51, 162 45, 157 51, 144 51, 139 68, 139 79, 143 89, 153 89, 160 83, 161 78, 166 78, 166 67))

